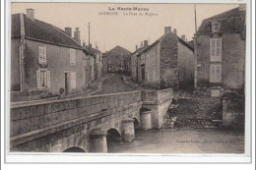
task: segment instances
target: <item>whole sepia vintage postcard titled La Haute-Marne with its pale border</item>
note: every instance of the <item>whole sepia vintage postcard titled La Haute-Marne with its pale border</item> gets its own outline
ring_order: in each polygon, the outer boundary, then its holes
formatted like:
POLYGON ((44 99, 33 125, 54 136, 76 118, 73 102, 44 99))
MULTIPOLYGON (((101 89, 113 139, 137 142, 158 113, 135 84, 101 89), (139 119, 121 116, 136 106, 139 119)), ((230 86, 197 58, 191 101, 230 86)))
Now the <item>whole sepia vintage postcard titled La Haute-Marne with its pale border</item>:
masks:
POLYGON ((7 160, 250 162, 250 9, 10 2, 7 160))

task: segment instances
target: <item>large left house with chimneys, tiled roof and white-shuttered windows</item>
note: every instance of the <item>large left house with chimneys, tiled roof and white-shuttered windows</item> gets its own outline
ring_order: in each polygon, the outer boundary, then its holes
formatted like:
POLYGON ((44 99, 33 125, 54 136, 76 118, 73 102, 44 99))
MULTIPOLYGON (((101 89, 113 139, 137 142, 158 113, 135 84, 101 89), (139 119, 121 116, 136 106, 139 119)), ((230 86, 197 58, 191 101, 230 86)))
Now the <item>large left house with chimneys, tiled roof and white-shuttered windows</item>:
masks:
POLYGON ((32 9, 12 15, 11 91, 58 93, 82 90, 88 85, 88 52, 79 29, 62 30, 34 19, 32 9))

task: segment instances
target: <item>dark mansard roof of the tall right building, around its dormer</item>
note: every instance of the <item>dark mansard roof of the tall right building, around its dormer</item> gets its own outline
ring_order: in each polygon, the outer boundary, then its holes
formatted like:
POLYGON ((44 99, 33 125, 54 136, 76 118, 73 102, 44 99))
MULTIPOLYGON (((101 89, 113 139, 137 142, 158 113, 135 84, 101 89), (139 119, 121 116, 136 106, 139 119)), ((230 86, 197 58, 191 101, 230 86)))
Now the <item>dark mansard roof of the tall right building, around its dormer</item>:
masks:
POLYGON ((239 8, 234 8, 205 19, 198 29, 198 33, 212 32, 212 21, 218 21, 221 24, 220 31, 243 31, 245 28, 245 11, 239 11, 239 8))

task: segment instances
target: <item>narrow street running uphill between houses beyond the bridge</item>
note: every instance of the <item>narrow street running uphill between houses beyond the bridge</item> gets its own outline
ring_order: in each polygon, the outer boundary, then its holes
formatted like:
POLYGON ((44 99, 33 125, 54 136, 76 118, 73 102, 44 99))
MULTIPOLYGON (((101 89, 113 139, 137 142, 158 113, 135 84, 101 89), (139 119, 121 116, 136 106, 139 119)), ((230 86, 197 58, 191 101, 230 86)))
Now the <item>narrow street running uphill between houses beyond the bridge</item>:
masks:
POLYGON ((123 82, 122 74, 109 74, 109 78, 102 83, 102 90, 96 94, 133 91, 136 88, 123 82))

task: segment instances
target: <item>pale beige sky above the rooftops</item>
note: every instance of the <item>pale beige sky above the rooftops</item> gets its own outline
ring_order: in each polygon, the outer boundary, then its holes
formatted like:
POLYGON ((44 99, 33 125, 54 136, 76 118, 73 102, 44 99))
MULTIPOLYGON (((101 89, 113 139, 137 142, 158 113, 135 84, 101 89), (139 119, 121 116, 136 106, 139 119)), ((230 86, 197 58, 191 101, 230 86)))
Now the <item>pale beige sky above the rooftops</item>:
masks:
MULTIPOLYGON (((237 4, 197 4, 197 28, 204 19, 236 7, 237 4)), ((72 34, 75 28, 80 28, 81 40, 86 44, 90 23, 90 41, 102 52, 117 45, 133 52, 143 40, 154 43, 164 33, 164 27, 176 28, 177 35, 185 34, 187 40, 191 40, 195 32, 194 4, 12 3, 11 13, 26 14, 28 8, 34 9, 35 19, 62 29, 70 27, 72 34), (118 11, 118 7, 149 11, 118 11), (103 12, 117 12, 118 15, 102 15, 103 12), (146 12, 154 16, 150 17, 146 12)))

